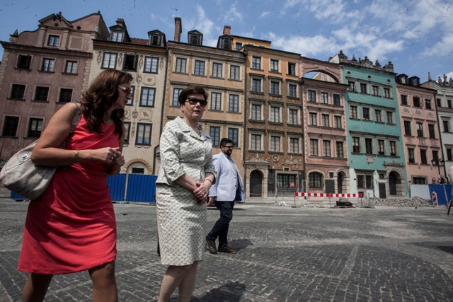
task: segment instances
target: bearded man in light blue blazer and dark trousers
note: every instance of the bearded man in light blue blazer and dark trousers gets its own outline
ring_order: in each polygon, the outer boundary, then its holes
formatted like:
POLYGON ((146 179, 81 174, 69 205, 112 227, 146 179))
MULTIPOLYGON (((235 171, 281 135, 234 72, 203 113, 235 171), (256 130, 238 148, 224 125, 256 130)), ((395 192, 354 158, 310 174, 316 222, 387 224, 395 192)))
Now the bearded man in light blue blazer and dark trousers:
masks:
POLYGON ((206 236, 207 250, 211 254, 217 254, 217 251, 236 254, 236 250, 228 246, 229 222, 233 219, 234 202, 244 201, 245 193, 239 170, 231 158, 232 152, 233 141, 222 139, 220 152, 212 158, 217 171, 217 179, 210 189, 208 206, 215 202, 215 206, 220 210, 220 218, 206 236), (218 248, 215 243, 217 238, 219 238, 218 248))

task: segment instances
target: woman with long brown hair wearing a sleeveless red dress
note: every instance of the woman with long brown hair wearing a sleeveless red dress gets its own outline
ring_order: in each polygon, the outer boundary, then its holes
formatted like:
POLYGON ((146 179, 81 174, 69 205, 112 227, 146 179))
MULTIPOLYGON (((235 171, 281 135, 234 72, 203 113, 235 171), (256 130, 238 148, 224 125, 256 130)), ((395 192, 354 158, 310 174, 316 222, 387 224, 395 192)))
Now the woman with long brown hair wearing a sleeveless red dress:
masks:
POLYGON ((93 281, 93 301, 117 301, 116 221, 107 175, 120 173, 125 163, 122 120, 131 82, 125 72, 103 71, 82 96, 71 137, 75 103, 55 113, 33 150, 33 163, 64 168, 28 207, 18 263, 30 273, 23 301, 43 301, 54 274, 84 270, 93 281))

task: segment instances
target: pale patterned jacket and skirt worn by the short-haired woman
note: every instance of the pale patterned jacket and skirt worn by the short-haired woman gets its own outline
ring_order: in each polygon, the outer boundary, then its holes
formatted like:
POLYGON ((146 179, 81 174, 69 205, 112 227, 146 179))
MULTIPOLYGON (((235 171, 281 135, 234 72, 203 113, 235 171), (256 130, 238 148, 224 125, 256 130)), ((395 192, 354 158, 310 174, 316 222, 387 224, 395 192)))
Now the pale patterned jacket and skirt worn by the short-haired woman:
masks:
POLYGON ((195 182, 203 182, 208 172, 217 175, 211 138, 200 130, 199 136, 176 117, 161 134, 156 210, 163 265, 191 265, 202 260, 205 250, 206 204, 198 203, 191 190, 174 182, 185 173, 195 182))

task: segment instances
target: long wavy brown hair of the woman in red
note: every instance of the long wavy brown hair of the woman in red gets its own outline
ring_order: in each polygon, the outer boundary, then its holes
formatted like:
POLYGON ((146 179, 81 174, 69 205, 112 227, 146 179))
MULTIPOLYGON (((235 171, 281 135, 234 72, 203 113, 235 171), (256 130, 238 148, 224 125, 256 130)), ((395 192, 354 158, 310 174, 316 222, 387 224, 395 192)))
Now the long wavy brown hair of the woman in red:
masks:
MULTIPOLYGON (((118 98, 118 86, 130 83, 133 78, 126 72, 107 69, 93 80, 88 90, 82 94, 81 110, 92 132, 101 133, 101 124, 105 111, 118 98)), ((122 121, 125 119, 125 110, 113 110, 110 116, 115 122, 115 133, 122 136, 122 121)))

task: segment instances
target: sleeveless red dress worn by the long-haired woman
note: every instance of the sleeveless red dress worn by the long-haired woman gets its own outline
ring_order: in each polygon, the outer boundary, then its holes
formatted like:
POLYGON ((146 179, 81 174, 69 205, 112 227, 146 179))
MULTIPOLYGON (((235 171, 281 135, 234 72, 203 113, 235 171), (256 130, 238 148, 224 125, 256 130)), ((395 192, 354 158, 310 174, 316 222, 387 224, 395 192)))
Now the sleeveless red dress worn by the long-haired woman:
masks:
MULTIPOLYGON (((88 130, 84 116, 67 149, 119 146, 115 126, 103 134, 88 130)), ((28 206, 18 270, 67 274, 91 269, 116 258, 116 221, 108 192, 105 163, 84 161, 57 170, 47 190, 28 206)))

